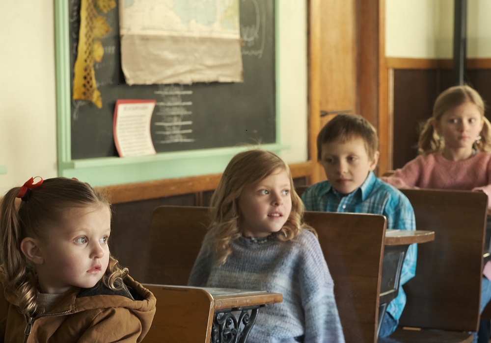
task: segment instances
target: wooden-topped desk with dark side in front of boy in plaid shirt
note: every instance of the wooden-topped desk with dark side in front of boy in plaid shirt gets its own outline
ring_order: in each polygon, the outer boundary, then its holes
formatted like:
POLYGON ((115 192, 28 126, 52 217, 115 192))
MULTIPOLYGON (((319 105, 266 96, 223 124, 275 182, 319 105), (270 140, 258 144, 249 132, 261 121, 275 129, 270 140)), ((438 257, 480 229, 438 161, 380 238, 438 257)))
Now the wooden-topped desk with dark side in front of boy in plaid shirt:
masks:
POLYGON ((434 231, 393 229, 385 231, 380 284, 379 331, 388 304, 399 294, 402 266, 409 245, 427 243, 433 240, 435 240, 434 231))

